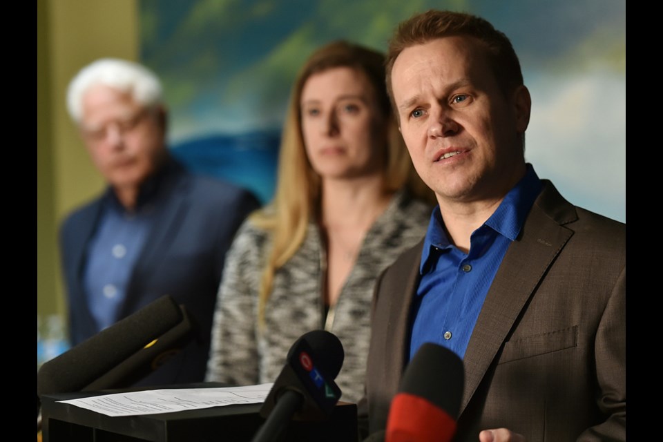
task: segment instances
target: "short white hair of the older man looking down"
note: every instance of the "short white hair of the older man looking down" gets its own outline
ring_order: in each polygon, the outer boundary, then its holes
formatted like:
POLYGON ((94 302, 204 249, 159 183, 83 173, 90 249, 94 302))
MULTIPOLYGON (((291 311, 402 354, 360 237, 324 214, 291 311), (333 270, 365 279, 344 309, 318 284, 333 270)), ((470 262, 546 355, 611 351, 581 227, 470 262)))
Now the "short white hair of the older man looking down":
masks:
POLYGON ((161 81, 151 70, 133 61, 99 59, 79 70, 69 83, 67 110, 75 122, 80 123, 83 116, 83 95, 97 85, 131 94, 137 104, 145 107, 162 102, 161 81))

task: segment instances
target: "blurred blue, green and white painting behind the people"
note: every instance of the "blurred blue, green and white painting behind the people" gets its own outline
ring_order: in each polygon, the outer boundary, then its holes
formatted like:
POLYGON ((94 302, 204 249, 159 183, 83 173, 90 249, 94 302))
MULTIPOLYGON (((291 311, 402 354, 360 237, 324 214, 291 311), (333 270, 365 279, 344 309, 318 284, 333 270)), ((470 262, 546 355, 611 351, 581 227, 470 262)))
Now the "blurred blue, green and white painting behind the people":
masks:
POLYGON ((571 202, 625 222, 624 0, 140 0, 140 61, 164 80, 177 155, 266 202, 309 53, 341 38, 386 50, 397 23, 430 8, 510 37, 532 95, 526 159, 571 202))

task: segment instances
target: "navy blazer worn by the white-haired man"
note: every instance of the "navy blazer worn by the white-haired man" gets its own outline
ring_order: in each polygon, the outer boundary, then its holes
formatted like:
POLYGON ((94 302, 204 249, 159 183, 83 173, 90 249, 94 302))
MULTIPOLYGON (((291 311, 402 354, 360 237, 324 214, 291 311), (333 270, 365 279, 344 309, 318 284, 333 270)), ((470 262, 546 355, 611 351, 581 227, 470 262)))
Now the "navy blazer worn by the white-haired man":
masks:
MULTIPOLYGON (((148 303, 172 296, 198 324, 198 339, 135 385, 168 385, 204 380, 212 316, 224 258, 236 230, 260 203, 250 191, 189 173, 174 159, 160 182, 155 217, 133 269, 118 319, 148 303)), ((64 220, 60 231, 72 345, 97 334, 88 308, 83 271, 88 241, 95 233, 104 195, 64 220)))

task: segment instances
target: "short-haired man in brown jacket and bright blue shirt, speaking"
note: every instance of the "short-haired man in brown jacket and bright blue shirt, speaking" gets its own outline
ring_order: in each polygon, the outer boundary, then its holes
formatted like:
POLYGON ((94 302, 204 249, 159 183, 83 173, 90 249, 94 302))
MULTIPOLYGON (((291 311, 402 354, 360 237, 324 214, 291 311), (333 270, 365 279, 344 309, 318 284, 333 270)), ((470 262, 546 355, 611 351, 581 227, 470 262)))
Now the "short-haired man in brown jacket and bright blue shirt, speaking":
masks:
POLYGON ((370 439, 430 342, 463 359, 454 440, 625 440, 626 225, 525 162, 530 94, 506 35, 472 15, 416 15, 390 42, 387 86, 439 206, 376 283, 359 404, 370 439))

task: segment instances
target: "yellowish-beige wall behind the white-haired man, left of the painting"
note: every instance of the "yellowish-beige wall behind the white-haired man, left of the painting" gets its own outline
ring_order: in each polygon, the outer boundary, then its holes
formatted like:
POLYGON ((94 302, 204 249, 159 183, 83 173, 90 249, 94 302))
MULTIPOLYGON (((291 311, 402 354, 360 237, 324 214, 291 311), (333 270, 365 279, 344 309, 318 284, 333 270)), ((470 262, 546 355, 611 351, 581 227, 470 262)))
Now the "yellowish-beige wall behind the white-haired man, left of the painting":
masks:
POLYGON ((138 59, 138 0, 37 0, 37 314, 65 314, 57 229, 103 182, 65 107, 68 81, 99 57, 138 59))

